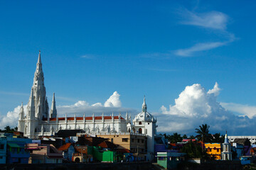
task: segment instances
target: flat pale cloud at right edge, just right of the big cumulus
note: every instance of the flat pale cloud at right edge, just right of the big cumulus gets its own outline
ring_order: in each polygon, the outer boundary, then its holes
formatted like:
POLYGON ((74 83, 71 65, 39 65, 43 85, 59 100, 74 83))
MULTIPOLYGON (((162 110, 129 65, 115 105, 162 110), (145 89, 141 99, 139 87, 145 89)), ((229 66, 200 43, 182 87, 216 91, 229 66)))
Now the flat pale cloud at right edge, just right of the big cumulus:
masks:
POLYGON ((240 113, 241 115, 247 115, 249 118, 256 116, 256 106, 242 105, 238 103, 221 103, 221 105, 228 109, 240 113))

